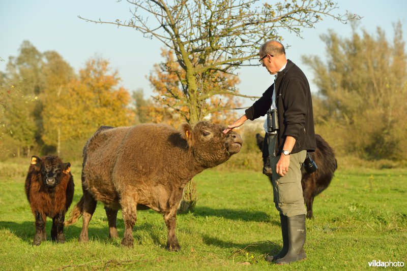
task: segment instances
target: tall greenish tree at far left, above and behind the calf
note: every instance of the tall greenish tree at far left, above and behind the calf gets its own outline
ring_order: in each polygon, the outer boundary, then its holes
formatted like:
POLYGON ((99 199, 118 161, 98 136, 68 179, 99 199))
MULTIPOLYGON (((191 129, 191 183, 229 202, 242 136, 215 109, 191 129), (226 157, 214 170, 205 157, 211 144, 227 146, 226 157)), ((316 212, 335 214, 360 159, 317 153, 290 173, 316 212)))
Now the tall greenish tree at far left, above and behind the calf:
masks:
POLYGON ((38 146, 40 140, 41 104, 34 98, 44 86, 42 66, 42 53, 28 41, 23 41, 19 55, 10 57, 7 64, 7 92, 10 100, 5 121, 17 156, 21 151, 30 156, 31 149, 38 146))

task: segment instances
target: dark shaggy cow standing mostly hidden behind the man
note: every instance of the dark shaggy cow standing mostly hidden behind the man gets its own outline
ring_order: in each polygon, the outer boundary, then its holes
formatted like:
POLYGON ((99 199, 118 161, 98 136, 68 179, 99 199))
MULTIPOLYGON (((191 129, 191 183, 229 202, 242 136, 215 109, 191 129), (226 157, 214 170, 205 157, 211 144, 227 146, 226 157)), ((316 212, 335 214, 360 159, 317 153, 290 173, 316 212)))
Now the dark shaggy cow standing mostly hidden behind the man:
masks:
MULTIPOLYGON (((257 146, 264 152, 263 164, 269 161, 268 150, 265 154, 264 138, 259 133, 256 134, 257 146)), ((312 204, 314 197, 324 191, 334 176, 336 168, 338 168, 334 150, 319 134, 315 134, 316 150, 309 153, 312 160, 315 161, 318 169, 309 174, 306 173, 304 167, 301 168, 301 185, 303 190, 303 197, 305 205, 307 206, 307 218, 313 218, 312 204)), ((267 147, 267 146, 266 146, 267 147)), ((270 166, 270 163, 269 163, 270 166)), ((271 182, 271 176, 269 176, 271 182)))

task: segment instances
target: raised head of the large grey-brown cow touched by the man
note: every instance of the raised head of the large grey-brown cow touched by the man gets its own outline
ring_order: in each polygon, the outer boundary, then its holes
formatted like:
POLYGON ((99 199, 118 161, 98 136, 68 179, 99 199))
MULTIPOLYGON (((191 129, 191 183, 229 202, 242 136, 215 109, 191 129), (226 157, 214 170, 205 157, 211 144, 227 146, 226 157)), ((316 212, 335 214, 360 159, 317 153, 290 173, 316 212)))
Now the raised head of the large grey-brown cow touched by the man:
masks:
POLYGON ((194 158, 204 167, 219 165, 242 148, 242 138, 235 131, 224 134, 225 126, 198 122, 193 128, 182 125, 181 136, 188 142, 194 158))

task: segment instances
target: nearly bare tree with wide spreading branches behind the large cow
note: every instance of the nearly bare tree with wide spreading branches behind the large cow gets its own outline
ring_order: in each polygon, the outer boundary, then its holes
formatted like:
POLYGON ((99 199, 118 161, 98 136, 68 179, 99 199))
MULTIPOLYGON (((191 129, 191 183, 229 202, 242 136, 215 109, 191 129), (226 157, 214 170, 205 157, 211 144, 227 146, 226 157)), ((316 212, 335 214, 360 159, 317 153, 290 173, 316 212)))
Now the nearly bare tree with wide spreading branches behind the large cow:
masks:
POLYGON ((207 99, 226 94, 248 97, 237 93, 234 86, 220 84, 225 88, 204 88, 213 80, 225 80, 225 75, 234 74, 241 65, 257 65, 259 46, 266 40, 281 40, 279 30, 300 35, 302 28, 313 27, 322 16, 341 22, 348 18, 333 15, 337 6, 330 0, 285 1, 275 5, 256 0, 127 2, 134 7, 129 20, 85 20, 134 28, 174 52, 183 72, 169 63, 164 63, 162 68, 178 77, 182 93, 167 95, 179 100, 177 108, 187 108, 185 116, 192 123, 205 116, 207 99))

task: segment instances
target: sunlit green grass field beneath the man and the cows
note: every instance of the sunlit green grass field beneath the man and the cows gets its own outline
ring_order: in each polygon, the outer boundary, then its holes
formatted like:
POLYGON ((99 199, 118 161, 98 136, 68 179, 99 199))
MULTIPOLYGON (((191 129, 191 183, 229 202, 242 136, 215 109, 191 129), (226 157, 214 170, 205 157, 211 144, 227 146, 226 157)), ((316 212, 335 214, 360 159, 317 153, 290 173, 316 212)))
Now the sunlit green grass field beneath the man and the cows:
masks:
MULTIPOLYGON (((407 264, 407 170, 338 170, 330 187, 314 201, 307 220, 308 259, 271 265, 265 254, 281 248, 279 216, 268 179, 251 171, 208 170, 195 177, 198 202, 193 213, 177 216, 180 252, 165 250, 162 215, 139 211, 134 248, 109 240, 98 204, 90 242, 77 242, 81 219, 65 229, 67 243, 33 247, 34 216, 24 194, 28 163, 0 166, 0 269, 146 270, 358 270, 368 262, 407 264), (12 171, 12 172, 11 172, 12 171)), ((72 166, 73 205, 79 200, 80 164, 72 166)), ((71 209, 73 207, 71 206, 71 209)), ((47 220, 47 236, 51 220, 47 220)), ((124 225, 118 216, 119 235, 124 225)))

